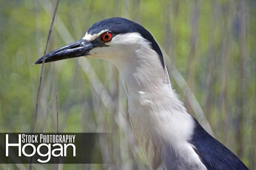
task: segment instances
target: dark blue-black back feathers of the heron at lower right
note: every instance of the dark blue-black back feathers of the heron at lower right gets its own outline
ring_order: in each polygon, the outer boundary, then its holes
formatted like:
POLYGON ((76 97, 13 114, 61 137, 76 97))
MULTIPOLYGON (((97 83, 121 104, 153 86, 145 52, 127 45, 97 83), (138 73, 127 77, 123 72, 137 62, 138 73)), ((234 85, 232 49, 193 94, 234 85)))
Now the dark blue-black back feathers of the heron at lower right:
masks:
POLYGON ((208 170, 248 170, 244 163, 227 147, 209 135, 194 118, 195 129, 189 143, 208 170))

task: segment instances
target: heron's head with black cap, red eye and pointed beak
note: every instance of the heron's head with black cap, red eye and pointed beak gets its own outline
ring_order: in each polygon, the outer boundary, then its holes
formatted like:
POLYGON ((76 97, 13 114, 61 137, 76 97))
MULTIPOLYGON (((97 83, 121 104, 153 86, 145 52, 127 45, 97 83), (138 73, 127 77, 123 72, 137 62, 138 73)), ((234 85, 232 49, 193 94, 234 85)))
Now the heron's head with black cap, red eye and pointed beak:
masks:
MULTIPOLYGON (((120 59, 131 60, 137 53, 152 51, 164 65, 157 42, 143 26, 114 17, 93 24, 81 40, 46 54, 45 62, 85 56, 106 59, 117 64, 120 59)), ((35 64, 42 63, 43 59, 44 57, 39 58, 35 64)))

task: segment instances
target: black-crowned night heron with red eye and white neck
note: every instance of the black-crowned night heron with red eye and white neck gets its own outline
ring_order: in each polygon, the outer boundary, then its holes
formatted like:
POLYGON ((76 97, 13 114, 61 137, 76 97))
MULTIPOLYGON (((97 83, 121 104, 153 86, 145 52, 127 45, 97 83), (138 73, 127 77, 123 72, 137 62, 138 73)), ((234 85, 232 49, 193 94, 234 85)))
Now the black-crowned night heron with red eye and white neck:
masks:
MULTIPOLYGON (((81 40, 47 54, 45 62, 80 56, 118 68, 134 134, 152 169, 248 169, 187 113, 172 90, 157 42, 143 26, 119 17, 99 21, 81 40)), ((42 62, 43 57, 35 64, 42 62)))

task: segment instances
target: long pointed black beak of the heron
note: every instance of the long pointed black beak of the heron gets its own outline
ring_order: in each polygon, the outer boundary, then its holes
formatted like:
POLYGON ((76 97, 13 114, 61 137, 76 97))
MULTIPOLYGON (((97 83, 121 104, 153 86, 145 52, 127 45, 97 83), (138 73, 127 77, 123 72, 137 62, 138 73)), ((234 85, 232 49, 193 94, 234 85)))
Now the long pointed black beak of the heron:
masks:
MULTIPOLYGON (((45 62, 58 61, 61 59, 68 59, 80 56, 89 55, 89 51, 93 49, 93 45, 90 41, 81 39, 73 42, 64 47, 58 48, 45 55, 45 62)), ((34 64, 41 64, 44 60, 44 56, 40 57, 34 64)))

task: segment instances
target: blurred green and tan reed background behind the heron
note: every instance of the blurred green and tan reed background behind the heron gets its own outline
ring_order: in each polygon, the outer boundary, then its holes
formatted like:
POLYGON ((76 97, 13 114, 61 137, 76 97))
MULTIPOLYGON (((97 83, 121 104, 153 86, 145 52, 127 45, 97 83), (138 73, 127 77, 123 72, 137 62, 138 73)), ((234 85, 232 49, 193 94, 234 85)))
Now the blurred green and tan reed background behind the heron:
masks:
MULTIPOLYGON (((0 0, 0 132, 34 131, 41 65, 32 63, 43 56, 56 3, 0 0)), ((255 0, 60 0, 47 52, 81 39, 90 25, 108 17, 141 24, 161 46, 172 87, 189 113, 256 170, 255 9, 255 0)), ((61 170, 150 169, 113 65, 83 57, 45 64, 36 132, 56 132, 55 94, 60 132, 117 134, 115 164, 62 164, 61 170)))

